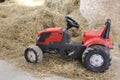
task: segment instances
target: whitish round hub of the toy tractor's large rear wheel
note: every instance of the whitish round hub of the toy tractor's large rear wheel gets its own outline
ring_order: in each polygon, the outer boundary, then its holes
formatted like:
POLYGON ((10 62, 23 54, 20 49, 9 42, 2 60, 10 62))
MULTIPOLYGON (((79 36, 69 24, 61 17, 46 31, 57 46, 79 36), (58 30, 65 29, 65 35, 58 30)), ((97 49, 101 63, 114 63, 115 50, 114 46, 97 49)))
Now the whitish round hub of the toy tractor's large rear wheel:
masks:
POLYGON ((94 67, 100 67, 104 63, 104 59, 99 54, 94 54, 90 57, 90 64, 94 67))

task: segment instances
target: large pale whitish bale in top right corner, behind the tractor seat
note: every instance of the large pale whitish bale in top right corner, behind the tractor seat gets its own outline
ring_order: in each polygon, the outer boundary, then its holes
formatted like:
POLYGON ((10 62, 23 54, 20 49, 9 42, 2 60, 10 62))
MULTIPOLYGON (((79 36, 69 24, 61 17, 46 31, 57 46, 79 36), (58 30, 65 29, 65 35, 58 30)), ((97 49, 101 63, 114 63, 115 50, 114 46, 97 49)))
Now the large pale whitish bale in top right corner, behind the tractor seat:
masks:
POLYGON ((80 12, 93 23, 96 20, 111 18, 115 24, 120 20, 120 0, 80 0, 80 12), (117 22, 116 22, 117 21, 117 22))

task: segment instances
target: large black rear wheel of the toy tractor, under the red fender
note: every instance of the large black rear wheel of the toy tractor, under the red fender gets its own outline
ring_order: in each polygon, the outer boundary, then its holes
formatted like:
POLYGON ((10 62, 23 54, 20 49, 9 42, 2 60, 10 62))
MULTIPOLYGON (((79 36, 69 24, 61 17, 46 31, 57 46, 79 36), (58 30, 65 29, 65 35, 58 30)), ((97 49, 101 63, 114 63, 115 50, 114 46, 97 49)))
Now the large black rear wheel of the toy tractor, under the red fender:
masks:
POLYGON ((95 72, 105 72, 111 65, 111 56, 101 48, 87 48, 82 55, 82 63, 88 70, 95 72), (94 58, 92 61, 93 56, 99 56, 99 59, 98 57, 95 59, 96 62, 94 64, 94 58), (100 64, 99 66, 97 64, 98 61, 101 61, 101 63, 98 63, 100 64))

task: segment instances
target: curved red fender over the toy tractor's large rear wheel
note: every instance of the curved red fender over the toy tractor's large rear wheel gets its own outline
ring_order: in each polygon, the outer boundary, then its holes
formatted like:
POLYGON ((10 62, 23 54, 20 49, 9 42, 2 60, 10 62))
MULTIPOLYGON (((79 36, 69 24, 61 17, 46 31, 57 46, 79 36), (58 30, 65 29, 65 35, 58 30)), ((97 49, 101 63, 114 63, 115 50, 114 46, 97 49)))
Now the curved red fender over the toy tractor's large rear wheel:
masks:
POLYGON ((103 46, 107 46, 109 48, 113 48, 111 39, 103 39, 103 38, 92 38, 87 40, 86 42, 84 42, 84 46, 89 47, 92 45, 103 45, 103 46))

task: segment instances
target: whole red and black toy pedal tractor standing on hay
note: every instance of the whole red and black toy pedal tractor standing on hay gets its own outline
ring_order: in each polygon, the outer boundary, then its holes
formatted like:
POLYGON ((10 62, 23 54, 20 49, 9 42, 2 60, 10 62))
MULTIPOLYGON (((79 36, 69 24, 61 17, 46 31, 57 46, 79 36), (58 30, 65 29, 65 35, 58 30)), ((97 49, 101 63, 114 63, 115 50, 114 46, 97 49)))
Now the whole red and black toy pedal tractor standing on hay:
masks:
POLYGON ((113 48, 109 36, 111 20, 108 19, 100 31, 87 31, 82 41, 72 41, 70 28, 80 25, 66 16, 66 28, 48 28, 38 33, 36 45, 25 49, 25 59, 30 63, 42 61, 45 53, 59 53, 61 58, 82 60, 83 65, 91 71, 104 72, 111 65, 109 50, 113 48))

